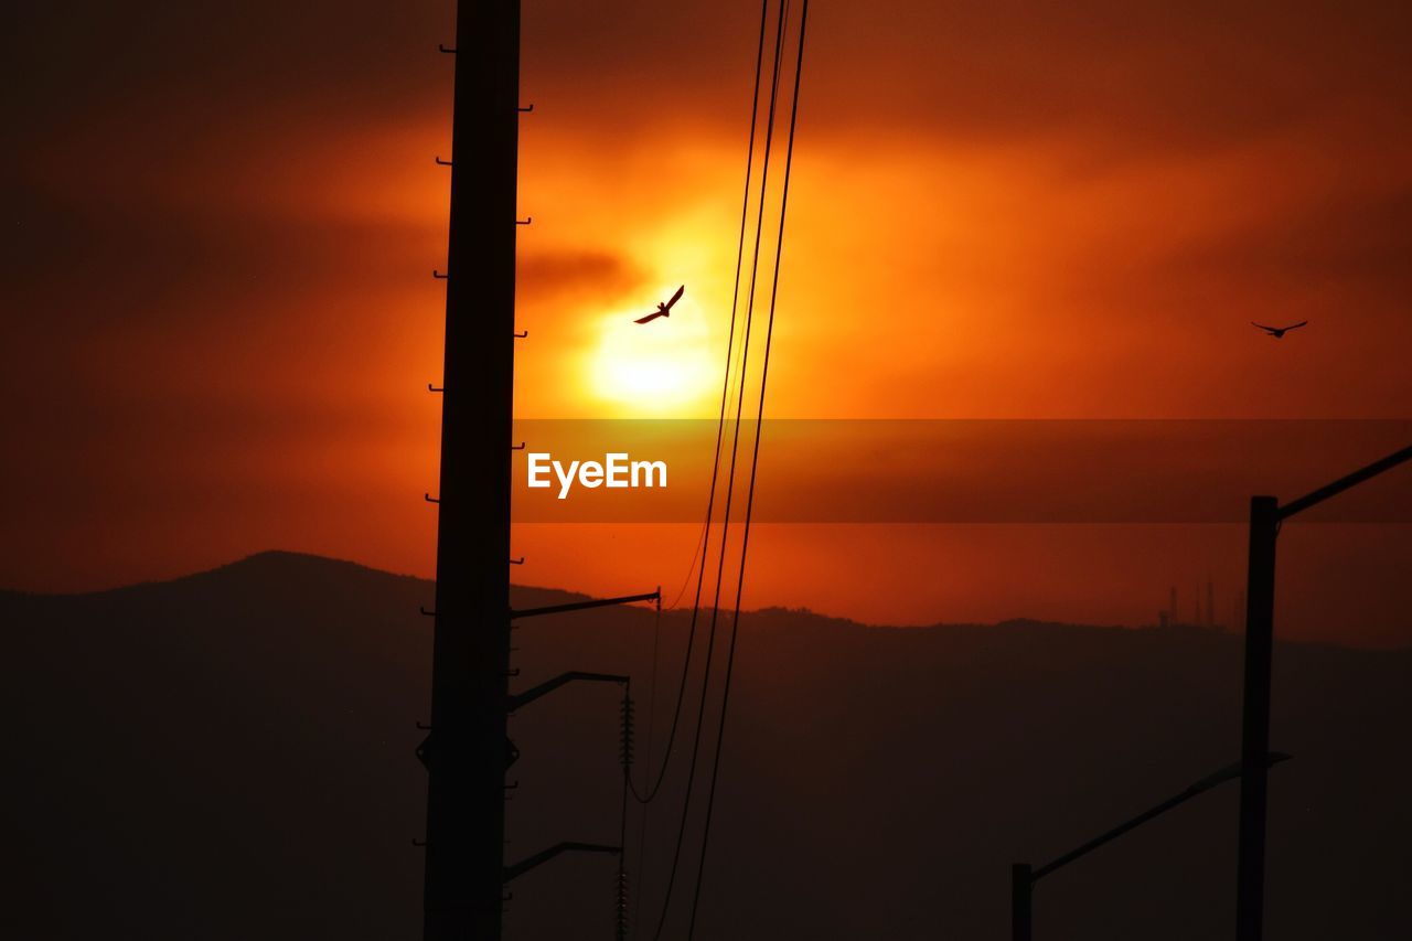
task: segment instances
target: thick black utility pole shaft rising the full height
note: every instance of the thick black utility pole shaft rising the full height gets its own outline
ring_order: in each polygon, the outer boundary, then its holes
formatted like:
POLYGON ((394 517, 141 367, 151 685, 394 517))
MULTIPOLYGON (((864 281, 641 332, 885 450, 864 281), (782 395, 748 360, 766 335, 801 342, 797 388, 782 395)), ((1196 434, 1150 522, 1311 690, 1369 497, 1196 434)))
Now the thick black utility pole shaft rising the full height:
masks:
POLYGON ((459 0, 424 938, 500 938, 520 0, 459 0))

